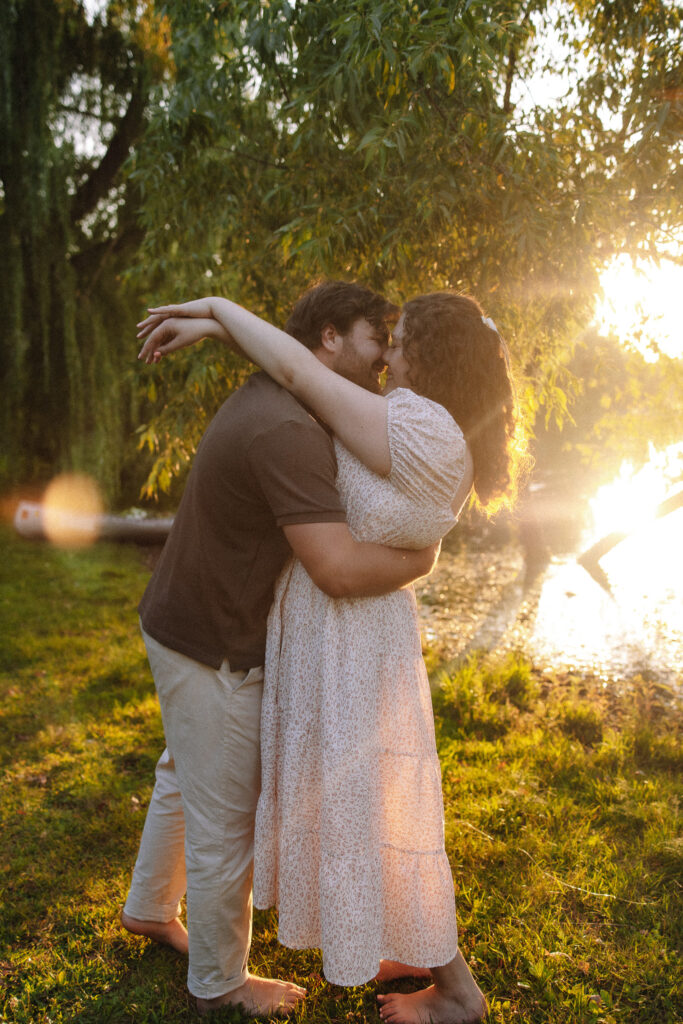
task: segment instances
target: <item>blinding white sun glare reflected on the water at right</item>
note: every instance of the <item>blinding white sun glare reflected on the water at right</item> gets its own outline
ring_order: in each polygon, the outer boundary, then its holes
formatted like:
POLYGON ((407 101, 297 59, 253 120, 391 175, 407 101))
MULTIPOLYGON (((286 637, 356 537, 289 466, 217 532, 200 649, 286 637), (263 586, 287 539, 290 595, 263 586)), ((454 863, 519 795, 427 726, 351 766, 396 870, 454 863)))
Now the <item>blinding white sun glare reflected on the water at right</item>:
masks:
POLYGON ((549 566, 540 595, 531 653, 605 677, 652 671, 679 677, 683 655, 683 507, 657 517, 683 488, 683 443, 650 449, 640 469, 625 462, 590 503, 584 550, 615 543, 599 560, 608 588, 575 558, 549 566))

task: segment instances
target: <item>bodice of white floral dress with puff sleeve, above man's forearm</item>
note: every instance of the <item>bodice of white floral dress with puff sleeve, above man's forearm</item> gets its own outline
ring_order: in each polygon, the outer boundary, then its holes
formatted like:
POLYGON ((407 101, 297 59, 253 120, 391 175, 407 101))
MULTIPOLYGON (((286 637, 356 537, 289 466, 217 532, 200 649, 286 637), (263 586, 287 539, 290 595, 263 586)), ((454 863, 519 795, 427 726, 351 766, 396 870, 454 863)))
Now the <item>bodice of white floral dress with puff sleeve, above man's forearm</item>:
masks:
POLYGON ((356 540, 424 548, 457 521, 451 506, 466 471, 466 441, 442 406, 407 388, 387 398, 389 475, 374 473, 335 440, 337 486, 356 540))

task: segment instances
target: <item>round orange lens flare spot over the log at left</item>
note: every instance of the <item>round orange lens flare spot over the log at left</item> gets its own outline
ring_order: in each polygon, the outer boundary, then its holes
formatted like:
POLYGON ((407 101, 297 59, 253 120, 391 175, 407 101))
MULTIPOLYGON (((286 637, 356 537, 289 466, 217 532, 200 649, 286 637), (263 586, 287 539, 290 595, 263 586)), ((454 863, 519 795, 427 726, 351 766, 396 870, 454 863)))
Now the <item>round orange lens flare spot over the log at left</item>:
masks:
POLYGON ((63 473, 52 480, 43 498, 43 528, 52 544, 84 548, 99 532, 102 500, 93 479, 63 473))

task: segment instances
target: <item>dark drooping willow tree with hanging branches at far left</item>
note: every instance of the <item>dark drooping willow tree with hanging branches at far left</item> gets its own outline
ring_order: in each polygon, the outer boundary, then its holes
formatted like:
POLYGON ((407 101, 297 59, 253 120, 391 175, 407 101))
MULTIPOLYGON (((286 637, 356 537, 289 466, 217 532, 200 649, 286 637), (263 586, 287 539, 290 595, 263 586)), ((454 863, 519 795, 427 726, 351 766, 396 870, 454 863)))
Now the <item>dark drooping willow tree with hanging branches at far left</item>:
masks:
POLYGON ((118 488, 139 308, 122 274, 142 239, 122 169, 166 49, 151 3, 0 7, 4 483, 78 468, 118 488))

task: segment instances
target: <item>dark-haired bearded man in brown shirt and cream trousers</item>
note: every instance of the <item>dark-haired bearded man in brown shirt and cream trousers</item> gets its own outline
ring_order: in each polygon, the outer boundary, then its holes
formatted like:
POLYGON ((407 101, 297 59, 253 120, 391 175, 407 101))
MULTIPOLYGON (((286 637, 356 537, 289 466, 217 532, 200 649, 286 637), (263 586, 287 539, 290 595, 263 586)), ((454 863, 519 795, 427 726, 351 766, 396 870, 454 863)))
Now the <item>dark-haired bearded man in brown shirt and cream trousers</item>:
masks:
MULTIPOLYGON (((376 390, 392 312, 366 288, 328 282, 299 300, 286 330, 327 366, 376 390)), ((157 345, 165 324, 153 332, 157 345)), ((217 333, 213 322, 198 319, 181 329, 195 340, 217 333)), ((287 1013, 305 994, 247 970, 261 667, 281 568, 294 552, 317 586, 339 597, 388 593, 433 564, 434 549, 355 542, 335 476, 325 428, 255 374, 205 433, 140 603, 167 750, 122 923, 188 948, 187 985, 203 1013, 225 1004, 254 1015, 287 1013), (178 918, 185 889, 188 937, 178 918)))

